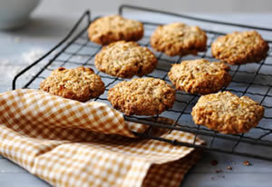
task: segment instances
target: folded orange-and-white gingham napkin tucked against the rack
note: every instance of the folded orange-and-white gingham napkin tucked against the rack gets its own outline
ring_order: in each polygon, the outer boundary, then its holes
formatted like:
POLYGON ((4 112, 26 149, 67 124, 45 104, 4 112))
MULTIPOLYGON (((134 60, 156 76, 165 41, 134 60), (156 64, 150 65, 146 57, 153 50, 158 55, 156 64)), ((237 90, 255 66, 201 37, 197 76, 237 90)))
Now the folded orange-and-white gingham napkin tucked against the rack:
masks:
MULTIPOLYGON (((0 94, 0 153, 53 186, 180 186, 199 152, 131 132, 147 128, 124 121, 105 103, 80 103, 38 90, 0 94)), ((185 143, 195 137, 157 133, 185 143)))

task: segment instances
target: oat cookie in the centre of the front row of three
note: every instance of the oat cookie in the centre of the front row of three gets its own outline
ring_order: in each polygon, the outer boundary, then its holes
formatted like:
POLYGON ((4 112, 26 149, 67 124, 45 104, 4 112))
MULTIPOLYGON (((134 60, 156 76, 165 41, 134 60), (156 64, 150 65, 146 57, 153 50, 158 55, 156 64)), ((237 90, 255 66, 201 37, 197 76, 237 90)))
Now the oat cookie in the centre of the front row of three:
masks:
POLYGON ((126 115, 157 115, 172 107, 175 90, 160 79, 134 78, 113 86, 108 100, 126 115))

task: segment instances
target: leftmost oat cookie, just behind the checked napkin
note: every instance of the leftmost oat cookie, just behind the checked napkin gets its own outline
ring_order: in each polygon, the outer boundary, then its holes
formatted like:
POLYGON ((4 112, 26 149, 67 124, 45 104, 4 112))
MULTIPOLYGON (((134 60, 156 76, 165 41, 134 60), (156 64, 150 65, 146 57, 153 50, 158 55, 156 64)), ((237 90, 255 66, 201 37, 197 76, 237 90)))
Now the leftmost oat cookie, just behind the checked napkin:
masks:
POLYGON ((40 84, 40 89, 64 98, 86 102, 103 94, 105 86, 101 77, 94 74, 91 68, 80 66, 75 69, 60 67, 53 70, 40 84))

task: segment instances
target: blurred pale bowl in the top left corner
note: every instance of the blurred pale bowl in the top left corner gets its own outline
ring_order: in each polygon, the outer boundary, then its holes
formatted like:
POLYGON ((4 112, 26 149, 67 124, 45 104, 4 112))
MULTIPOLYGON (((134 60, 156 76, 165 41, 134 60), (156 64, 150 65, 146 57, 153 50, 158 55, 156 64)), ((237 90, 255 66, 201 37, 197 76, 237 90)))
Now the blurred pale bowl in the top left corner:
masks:
POLYGON ((0 0, 0 29, 25 25, 40 0, 0 0))

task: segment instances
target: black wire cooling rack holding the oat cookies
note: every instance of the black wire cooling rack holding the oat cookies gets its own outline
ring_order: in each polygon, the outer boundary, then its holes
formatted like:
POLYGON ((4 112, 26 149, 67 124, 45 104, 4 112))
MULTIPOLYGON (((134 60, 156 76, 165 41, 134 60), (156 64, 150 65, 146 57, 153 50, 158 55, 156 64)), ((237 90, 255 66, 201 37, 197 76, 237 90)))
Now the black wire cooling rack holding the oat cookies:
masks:
MULTIPOLYGON (((210 53, 210 44, 222 34, 227 34, 231 31, 242 30, 257 30, 267 40, 268 37, 272 37, 272 29, 262 28, 250 25, 238 25, 223 23, 214 20, 202 19, 198 17, 192 17, 189 15, 177 15, 158 10, 152 10, 148 8, 135 7, 131 5, 121 5, 119 14, 124 17, 131 16, 133 13, 137 16, 144 14, 144 19, 141 21, 144 25, 145 34, 139 44, 148 46, 151 33, 160 24, 167 24, 174 21, 180 21, 189 25, 199 25, 208 35, 208 48, 207 51, 199 53, 196 56, 185 57, 169 57, 165 54, 154 52, 159 59, 159 64, 156 69, 146 75, 147 77, 157 77, 170 83, 167 73, 170 70, 170 64, 180 63, 181 60, 206 58, 210 61, 216 61, 212 58, 210 53), (130 14, 125 14, 129 12, 130 14), (148 20, 149 15, 151 21, 148 20), (163 22, 164 18, 168 18, 167 22, 163 22), (156 18, 156 22, 154 22, 156 18)), ((140 16, 139 16, 140 17, 140 16)), ((71 32, 53 47, 43 57, 38 59, 33 64, 26 67, 21 73, 15 76, 13 81, 13 89, 16 88, 16 84, 20 84, 17 87, 23 88, 38 88, 41 81, 48 76, 53 69, 64 66, 66 68, 73 68, 79 65, 90 66, 102 77, 102 81, 106 84, 106 91, 95 101, 101 101, 109 103, 107 101, 107 92, 113 85, 123 81, 121 78, 113 77, 108 74, 99 72, 94 66, 94 56, 101 49, 102 46, 93 44, 88 39, 87 28, 92 23, 91 15, 89 11, 86 11, 79 21, 74 25, 71 32), (87 22, 86 22, 87 21, 87 22), (79 31, 78 31, 79 30, 79 31), (20 82, 17 79, 20 77, 20 82), (24 83, 24 84, 22 84, 24 83)), ((272 48, 272 41, 267 40, 269 47, 272 48)), ((152 49, 151 49, 152 50, 152 49)), ((231 66, 230 74, 232 74, 233 80, 227 88, 222 90, 230 91, 234 94, 248 95, 258 103, 261 103, 265 109, 265 116, 256 128, 253 128, 249 133, 241 134, 223 134, 209 130, 205 126, 196 125, 193 123, 190 112, 195 103, 199 99, 197 94, 186 94, 177 91, 176 101, 174 106, 160 116, 167 117, 174 120, 175 125, 167 125, 165 123, 159 123, 156 121, 147 120, 145 116, 124 116, 126 120, 137 123, 145 123, 152 127, 167 128, 173 131, 185 131, 189 133, 195 133, 195 140, 197 137, 206 141, 205 145, 197 145, 195 141, 193 143, 182 143, 179 140, 167 140, 159 136, 149 133, 137 133, 137 135, 143 138, 151 138, 158 141, 164 141, 175 145, 185 145, 189 147, 201 148, 207 151, 215 151, 220 153, 234 153, 238 155, 244 155, 249 157, 255 157, 259 159, 266 159, 272 161, 272 55, 271 51, 268 52, 266 60, 260 63, 252 63, 245 65, 231 66)), ((157 116, 158 117, 158 116, 157 116)))

